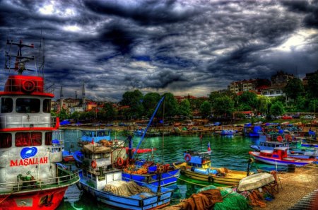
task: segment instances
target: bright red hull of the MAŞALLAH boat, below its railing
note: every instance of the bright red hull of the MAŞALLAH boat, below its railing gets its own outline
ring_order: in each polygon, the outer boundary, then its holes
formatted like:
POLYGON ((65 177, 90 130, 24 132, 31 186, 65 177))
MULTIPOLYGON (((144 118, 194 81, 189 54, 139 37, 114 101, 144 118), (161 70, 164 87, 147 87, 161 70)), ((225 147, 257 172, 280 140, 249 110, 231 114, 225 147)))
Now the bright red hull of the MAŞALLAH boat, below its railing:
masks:
POLYGON ((0 194, 0 209, 57 209, 67 187, 39 189, 30 192, 0 194))

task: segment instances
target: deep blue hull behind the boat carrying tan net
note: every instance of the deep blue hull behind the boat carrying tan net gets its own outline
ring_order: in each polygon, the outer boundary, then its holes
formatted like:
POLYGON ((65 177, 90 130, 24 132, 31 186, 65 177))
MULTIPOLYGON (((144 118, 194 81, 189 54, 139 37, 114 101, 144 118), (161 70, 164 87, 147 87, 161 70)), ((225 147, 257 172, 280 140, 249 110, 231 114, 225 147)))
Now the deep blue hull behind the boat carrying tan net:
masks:
MULTIPOLYGON (((180 169, 175 169, 168 171, 166 173, 162 173, 160 177, 160 185, 166 186, 166 185, 172 185, 177 182, 177 179, 180 175, 180 169)), ((136 182, 145 182, 147 184, 158 186, 158 175, 157 174, 131 174, 131 173, 122 173, 122 180, 124 181, 130 181, 134 180, 136 182)))

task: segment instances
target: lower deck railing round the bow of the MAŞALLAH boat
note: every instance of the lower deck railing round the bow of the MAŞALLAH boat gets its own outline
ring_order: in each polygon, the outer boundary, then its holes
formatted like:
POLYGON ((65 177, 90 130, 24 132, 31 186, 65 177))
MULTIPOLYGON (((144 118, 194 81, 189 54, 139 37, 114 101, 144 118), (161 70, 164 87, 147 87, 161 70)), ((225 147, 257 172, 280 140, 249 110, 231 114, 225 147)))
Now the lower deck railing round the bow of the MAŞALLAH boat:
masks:
POLYGON ((80 180, 78 175, 78 170, 69 171, 62 168, 58 168, 62 173, 69 173, 69 175, 61 175, 59 177, 53 177, 49 179, 37 179, 37 180, 27 180, 19 182, 6 182, 0 183, 0 193, 1 192, 21 192, 21 191, 37 191, 40 189, 49 189, 56 187, 66 187, 73 185, 80 180))

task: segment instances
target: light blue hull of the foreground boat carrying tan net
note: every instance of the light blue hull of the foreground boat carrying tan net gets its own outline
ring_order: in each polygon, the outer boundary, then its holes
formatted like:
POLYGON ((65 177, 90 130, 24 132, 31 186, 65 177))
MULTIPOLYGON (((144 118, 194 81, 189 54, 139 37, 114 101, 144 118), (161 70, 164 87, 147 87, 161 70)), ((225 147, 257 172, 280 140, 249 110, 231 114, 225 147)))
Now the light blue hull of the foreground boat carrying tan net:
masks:
MULTIPOLYGON (((144 210, 144 209, 160 209, 170 204, 172 189, 162 188, 161 193, 148 193, 136 194, 131 197, 119 196, 110 192, 104 192, 89 185, 86 185, 82 180, 80 181, 83 190, 92 194, 98 202, 107 204, 116 209, 131 209, 131 210, 144 210)), ((158 187, 151 188, 153 192, 157 191, 158 187)))

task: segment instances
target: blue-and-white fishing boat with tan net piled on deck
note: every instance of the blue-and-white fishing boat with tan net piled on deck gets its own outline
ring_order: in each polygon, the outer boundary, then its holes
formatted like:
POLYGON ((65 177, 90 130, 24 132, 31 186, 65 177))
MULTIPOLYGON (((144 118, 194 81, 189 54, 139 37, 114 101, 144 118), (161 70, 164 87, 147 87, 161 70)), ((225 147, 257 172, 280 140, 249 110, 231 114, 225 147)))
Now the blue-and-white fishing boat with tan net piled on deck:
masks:
POLYGON ((82 151, 84 167, 80 174, 80 187, 99 202, 116 209, 136 210, 159 209, 170 204, 172 189, 145 182, 123 181, 122 170, 112 167, 110 147, 86 144, 82 151))

